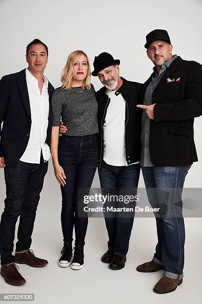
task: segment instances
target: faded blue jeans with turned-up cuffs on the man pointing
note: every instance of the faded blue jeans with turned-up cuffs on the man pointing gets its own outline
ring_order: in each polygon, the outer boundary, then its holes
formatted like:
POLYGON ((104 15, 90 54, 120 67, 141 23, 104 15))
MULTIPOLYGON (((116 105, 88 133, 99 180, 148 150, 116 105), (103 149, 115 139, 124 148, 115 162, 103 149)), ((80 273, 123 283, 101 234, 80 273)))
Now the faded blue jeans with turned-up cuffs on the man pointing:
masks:
POLYGON ((158 242, 153 261, 163 265, 163 275, 183 278, 185 226, 182 190, 191 165, 179 167, 141 167, 147 195, 154 213, 158 242))

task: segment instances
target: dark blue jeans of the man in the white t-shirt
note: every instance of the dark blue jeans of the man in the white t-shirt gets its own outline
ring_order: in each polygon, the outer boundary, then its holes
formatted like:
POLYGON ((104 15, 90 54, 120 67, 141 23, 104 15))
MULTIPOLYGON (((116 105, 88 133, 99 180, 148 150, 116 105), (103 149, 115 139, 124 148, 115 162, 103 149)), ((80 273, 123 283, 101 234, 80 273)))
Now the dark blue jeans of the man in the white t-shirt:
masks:
MULTIPOLYGON (((102 194, 127 195, 129 194, 128 192, 130 192, 130 194, 134 196, 137 194, 139 176, 139 163, 130 166, 112 166, 103 161, 99 169, 102 194), (131 193, 131 190, 133 193, 131 193)), ((105 203, 106 206, 107 204, 110 204, 110 202, 105 203)), ((135 202, 133 207, 135 207, 135 202)), ((108 217, 104 213, 105 225, 109 237, 108 249, 112 249, 114 254, 126 256, 131 230, 133 228, 134 215, 135 213, 132 212, 127 217, 124 217, 123 214, 108 217)))

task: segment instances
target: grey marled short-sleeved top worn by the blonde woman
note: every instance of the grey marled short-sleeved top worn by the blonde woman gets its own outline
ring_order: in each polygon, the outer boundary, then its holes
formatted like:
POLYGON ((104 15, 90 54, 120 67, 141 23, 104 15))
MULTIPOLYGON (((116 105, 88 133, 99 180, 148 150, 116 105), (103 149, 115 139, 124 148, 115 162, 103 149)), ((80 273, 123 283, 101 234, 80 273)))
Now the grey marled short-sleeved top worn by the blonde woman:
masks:
POLYGON ((98 102, 94 86, 83 90, 82 86, 65 90, 61 86, 52 94, 53 126, 60 120, 67 127, 66 135, 82 136, 98 133, 98 102))

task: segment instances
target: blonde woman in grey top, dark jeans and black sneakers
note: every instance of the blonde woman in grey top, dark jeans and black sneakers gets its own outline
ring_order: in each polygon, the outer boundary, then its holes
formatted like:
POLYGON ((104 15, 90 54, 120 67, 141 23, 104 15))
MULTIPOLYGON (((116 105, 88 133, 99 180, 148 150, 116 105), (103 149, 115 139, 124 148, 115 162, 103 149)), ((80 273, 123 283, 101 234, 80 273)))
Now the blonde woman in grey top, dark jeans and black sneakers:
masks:
MULTIPOLYGON (((84 244, 88 216, 78 214, 78 189, 90 188, 98 163, 98 103, 91 84, 91 71, 83 51, 72 52, 63 69, 62 86, 52 95, 53 127, 51 155, 62 194, 63 248, 58 265, 72 269, 84 266, 84 244), (61 137, 60 120, 67 127, 61 137), (72 257, 73 228, 75 250, 72 257)), ((81 208, 80 208, 81 209, 81 208)))

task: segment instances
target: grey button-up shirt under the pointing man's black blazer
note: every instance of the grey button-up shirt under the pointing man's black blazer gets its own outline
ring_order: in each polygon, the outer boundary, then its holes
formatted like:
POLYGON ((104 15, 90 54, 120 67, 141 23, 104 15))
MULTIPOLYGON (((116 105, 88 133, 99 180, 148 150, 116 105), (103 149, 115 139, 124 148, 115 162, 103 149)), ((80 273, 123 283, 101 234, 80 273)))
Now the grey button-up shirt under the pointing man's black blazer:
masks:
MULTIPOLYGON (((152 94, 153 90, 155 89, 156 85, 165 74, 166 70, 169 66, 173 63, 173 61, 177 58, 177 55, 174 55, 169 61, 165 62, 160 69, 159 74, 156 71, 156 68, 153 68, 153 75, 152 80, 148 84, 145 96, 143 100, 144 105, 151 105, 152 104, 152 94)), ((151 158, 150 158, 150 118, 148 117, 145 110, 143 110, 143 117, 142 117, 142 133, 141 133, 141 144, 142 144, 142 151, 141 151, 141 166, 144 167, 151 167, 153 166, 151 158)))

